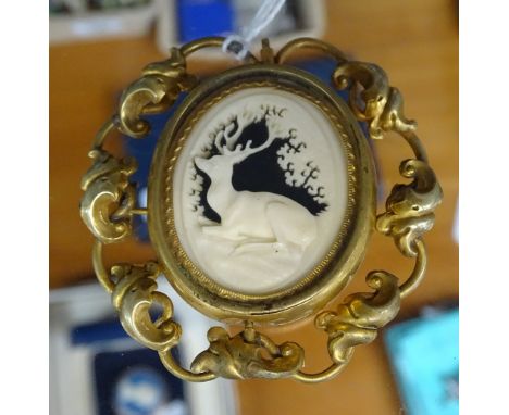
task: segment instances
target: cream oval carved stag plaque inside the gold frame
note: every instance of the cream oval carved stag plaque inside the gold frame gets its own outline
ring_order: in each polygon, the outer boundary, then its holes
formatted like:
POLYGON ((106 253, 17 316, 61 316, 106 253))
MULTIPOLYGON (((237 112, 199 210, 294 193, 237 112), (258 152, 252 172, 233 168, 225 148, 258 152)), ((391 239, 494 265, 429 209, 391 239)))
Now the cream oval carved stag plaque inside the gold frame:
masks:
POLYGON ((346 212, 336 136, 316 105, 275 88, 233 92, 203 113, 173 177, 175 227, 191 261, 249 294, 307 275, 346 212))

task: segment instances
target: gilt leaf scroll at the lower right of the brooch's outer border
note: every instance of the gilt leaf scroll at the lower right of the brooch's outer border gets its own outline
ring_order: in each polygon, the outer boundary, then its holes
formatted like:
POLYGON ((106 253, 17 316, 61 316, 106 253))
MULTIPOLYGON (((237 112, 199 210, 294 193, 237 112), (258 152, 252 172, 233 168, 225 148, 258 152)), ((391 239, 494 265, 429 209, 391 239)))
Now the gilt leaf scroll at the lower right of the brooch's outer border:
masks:
POLYGON ((328 353, 337 364, 347 363, 356 345, 371 343, 376 338, 376 330, 399 312, 397 277, 375 271, 365 281, 374 293, 349 295, 337 312, 323 312, 314 320, 318 328, 328 334, 328 353))

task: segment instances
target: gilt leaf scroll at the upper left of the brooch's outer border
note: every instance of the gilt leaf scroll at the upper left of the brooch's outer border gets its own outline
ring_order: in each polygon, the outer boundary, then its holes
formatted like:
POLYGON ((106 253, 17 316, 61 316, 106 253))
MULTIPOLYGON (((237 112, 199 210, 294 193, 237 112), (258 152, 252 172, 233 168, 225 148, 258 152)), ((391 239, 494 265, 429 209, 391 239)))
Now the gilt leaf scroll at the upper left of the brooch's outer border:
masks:
POLYGON ((186 72, 181 50, 173 48, 167 60, 147 65, 141 78, 124 90, 119 106, 120 129, 131 137, 142 138, 150 125, 140 116, 167 110, 195 83, 196 78, 186 72))

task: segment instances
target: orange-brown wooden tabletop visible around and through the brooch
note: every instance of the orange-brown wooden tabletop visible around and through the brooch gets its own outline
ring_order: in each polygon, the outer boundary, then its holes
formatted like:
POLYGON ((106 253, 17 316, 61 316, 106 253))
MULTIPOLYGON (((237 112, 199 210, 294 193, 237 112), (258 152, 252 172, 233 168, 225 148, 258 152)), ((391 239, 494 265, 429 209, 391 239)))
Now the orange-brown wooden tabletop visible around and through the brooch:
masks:
MULTIPOLYGON (((419 134, 444 188, 433 231, 426 237, 430 268, 420 289, 402 304, 402 316, 424 304, 458 295, 458 247, 451 239, 458 197, 458 35, 455 3, 446 0, 330 0, 324 39, 358 60, 375 62, 405 98, 406 114, 419 121, 419 134)), ((78 214, 79 178, 88 168, 87 150, 112 113, 117 93, 141 67, 163 58, 149 37, 50 48, 50 287, 91 277, 91 237, 78 214)), ((204 70, 204 62, 193 64, 204 70)), ((213 65, 218 66, 221 65, 213 65)), ((207 70, 214 70, 207 63, 207 70)), ((404 142, 376 143, 386 189, 397 180, 404 142)), ((411 263, 387 238, 376 236, 348 292, 364 288, 373 268, 406 276, 411 263)), ((151 257, 145 246, 112 247, 111 261, 151 257)), ((301 342, 307 367, 326 364, 325 336, 308 322, 285 331, 266 330, 276 340, 301 342)), ((204 335, 204 334, 203 334, 204 335)), ((360 347, 335 380, 306 386, 294 381, 238 382, 239 413, 399 414, 400 402, 382 342, 360 347)))

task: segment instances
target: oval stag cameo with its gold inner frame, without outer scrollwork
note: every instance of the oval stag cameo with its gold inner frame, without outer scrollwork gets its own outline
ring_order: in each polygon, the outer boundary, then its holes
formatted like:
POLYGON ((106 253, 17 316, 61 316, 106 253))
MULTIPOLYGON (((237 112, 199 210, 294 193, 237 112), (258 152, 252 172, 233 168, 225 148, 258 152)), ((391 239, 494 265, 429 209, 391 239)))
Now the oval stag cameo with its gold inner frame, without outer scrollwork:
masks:
POLYGON ((297 70, 251 65, 199 85, 152 163, 149 228, 165 275, 220 319, 302 318, 362 257, 369 154, 347 105, 297 70))

